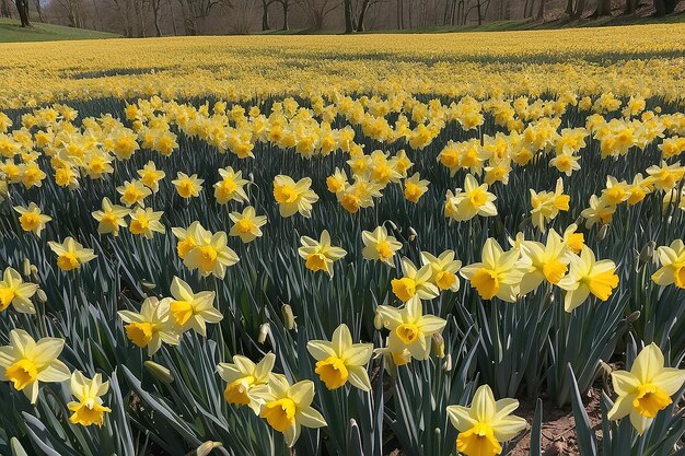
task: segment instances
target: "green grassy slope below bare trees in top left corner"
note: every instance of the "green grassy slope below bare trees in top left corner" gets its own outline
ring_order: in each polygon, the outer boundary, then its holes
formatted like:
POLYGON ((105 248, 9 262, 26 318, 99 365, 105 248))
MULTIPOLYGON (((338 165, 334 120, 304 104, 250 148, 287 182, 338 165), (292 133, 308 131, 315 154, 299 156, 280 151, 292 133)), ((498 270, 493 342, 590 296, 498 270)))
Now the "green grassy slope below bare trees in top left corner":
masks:
POLYGON ((0 43, 51 42, 58 39, 117 38, 119 35, 61 25, 34 22, 33 28, 22 28, 19 20, 0 19, 0 43))

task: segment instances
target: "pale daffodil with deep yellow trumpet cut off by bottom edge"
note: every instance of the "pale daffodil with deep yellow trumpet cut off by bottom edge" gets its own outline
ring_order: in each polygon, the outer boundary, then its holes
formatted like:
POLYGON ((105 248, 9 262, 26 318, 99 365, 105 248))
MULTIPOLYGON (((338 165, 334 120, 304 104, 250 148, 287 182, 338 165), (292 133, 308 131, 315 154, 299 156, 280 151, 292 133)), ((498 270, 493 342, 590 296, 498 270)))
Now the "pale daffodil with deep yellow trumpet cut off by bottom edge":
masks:
POLYGON ((448 417, 458 431, 456 451, 466 456, 495 456, 502 443, 512 440, 527 423, 511 413, 519 408, 515 399, 495 400, 488 385, 480 386, 471 407, 449 406, 448 417))

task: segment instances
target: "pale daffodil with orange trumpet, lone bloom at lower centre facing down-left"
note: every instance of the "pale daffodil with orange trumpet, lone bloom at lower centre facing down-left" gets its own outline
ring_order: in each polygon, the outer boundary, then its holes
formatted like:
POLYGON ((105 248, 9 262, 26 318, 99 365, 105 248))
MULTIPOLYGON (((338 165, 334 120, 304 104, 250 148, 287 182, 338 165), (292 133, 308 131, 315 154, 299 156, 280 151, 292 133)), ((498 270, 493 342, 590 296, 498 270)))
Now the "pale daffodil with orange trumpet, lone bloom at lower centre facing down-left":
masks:
POLYGON ((365 365, 373 354, 373 343, 352 343, 347 325, 333 332, 330 341, 310 340, 306 350, 316 360, 314 372, 328 389, 337 389, 347 382, 357 388, 371 390, 365 365))

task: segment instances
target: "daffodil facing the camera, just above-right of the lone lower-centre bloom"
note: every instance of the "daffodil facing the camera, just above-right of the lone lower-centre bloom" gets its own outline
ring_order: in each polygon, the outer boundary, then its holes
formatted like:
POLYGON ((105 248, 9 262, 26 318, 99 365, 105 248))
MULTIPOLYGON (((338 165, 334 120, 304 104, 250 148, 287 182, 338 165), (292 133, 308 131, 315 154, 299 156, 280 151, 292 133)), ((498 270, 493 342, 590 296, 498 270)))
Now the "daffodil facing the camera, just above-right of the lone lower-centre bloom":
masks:
POLYGON ((431 336, 441 332, 446 321, 434 315, 423 315, 420 300, 409 300, 403 309, 380 305, 376 312, 390 329, 387 347, 392 353, 407 349, 417 360, 426 360, 430 354, 431 336))

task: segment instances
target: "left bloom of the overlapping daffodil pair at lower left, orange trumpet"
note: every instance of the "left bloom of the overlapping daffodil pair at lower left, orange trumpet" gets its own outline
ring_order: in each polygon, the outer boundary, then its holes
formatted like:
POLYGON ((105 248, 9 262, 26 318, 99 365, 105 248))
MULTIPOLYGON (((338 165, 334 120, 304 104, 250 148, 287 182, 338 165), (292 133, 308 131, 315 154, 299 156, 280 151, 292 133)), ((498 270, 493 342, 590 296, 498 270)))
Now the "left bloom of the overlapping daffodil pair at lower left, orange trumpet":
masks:
POLYGON ((162 342, 177 346, 179 336, 176 332, 175 320, 170 312, 171 300, 159 301, 148 297, 140 306, 140 313, 119 311, 119 318, 126 325, 126 336, 137 347, 148 348, 148 355, 152 356, 162 347, 162 342))

